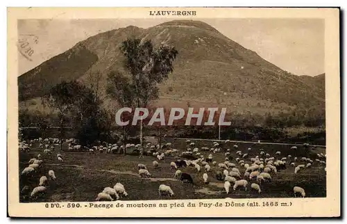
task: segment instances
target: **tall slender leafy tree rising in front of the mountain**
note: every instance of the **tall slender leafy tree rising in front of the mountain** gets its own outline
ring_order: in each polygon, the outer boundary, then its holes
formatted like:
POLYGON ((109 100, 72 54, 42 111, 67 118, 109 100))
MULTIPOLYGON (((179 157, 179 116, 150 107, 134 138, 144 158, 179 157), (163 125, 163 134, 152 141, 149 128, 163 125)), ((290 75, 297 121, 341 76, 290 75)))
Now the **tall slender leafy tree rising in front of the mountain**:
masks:
MULTIPOLYGON (((151 40, 128 39, 122 42, 121 52, 125 56, 124 65, 130 72, 134 88, 135 106, 146 108, 153 99, 158 99, 158 83, 162 83, 174 70, 174 60, 178 51, 174 47, 153 46, 151 40)), ((140 143, 143 147, 143 122, 140 122, 140 143)))

